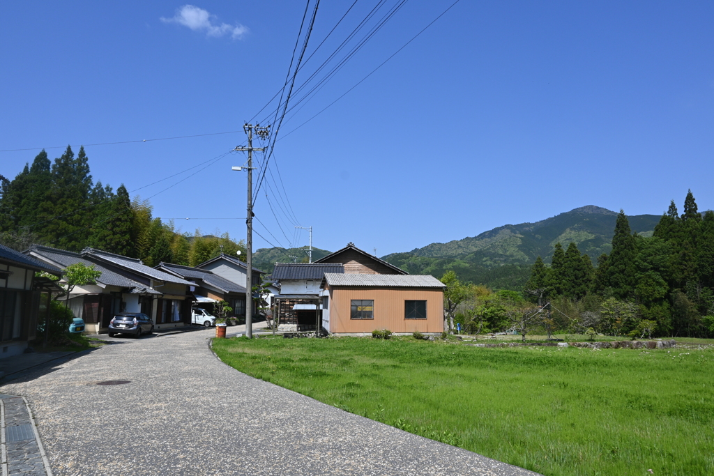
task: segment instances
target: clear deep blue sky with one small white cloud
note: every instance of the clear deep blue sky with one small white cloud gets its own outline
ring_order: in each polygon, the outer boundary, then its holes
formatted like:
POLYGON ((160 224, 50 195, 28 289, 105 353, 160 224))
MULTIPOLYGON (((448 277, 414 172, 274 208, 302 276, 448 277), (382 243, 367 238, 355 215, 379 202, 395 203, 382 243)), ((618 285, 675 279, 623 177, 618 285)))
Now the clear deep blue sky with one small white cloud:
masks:
MULTIPOLYGON (((351 3, 322 1, 306 58, 351 3)), ((378 3, 356 2, 296 88, 378 3)), ((300 225, 319 248, 385 255, 585 205, 681 211, 688 188, 714 208, 711 2, 461 0, 312 118, 451 4, 406 1, 288 112, 255 209, 270 243, 254 248, 306 245, 300 225)), ((246 157, 223 154, 275 110, 258 114, 283 86, 305 5, 4 4, 0 174, 84 144, 94 180, 151 197, 154 216, 243 238, 246 174, 231 166, 246 157), (126 143, 87 145, 111 142, 126 143)))

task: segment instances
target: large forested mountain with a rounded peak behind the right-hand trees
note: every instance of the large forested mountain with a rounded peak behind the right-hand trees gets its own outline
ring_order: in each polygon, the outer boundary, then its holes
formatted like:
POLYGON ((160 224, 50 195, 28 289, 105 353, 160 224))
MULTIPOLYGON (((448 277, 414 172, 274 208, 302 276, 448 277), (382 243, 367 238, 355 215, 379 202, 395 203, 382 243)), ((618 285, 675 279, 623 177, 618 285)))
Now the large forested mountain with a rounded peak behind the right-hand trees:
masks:
MULTIPOLYGON (((441 276, 454 270, 463 281, 520 290, 535 258, 549 262, 555 243, 563 247, 575 243, 593 263, 599 255, 610 253, 617 216, 606 208, 584 206, 535 223, 504 225, 475 237, 431 243, 382 259, 412 274, 441 276)), ((640 236, 652 236, 660 216, 638 215, 628 220, 640 236)))

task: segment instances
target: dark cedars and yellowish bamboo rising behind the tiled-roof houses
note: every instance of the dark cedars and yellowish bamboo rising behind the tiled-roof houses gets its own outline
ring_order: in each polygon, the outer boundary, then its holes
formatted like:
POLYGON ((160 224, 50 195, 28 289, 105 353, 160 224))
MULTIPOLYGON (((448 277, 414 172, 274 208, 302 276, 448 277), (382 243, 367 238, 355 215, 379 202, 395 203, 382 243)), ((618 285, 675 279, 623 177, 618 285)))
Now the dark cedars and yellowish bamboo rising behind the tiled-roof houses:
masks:
MULTIPOLYGON (((94 183, 84 147, 50 161, 43 150, 13 180, 0 179, 0 243, 24 250, 33 243, 69 251, 97 248, 147 265, 196 265, 242 243, 220 236, 178 233, 152 216, 151 204, 134 200, 124 184, 94 183)), ((218 233, 220 234, 220 233, 218 233)))

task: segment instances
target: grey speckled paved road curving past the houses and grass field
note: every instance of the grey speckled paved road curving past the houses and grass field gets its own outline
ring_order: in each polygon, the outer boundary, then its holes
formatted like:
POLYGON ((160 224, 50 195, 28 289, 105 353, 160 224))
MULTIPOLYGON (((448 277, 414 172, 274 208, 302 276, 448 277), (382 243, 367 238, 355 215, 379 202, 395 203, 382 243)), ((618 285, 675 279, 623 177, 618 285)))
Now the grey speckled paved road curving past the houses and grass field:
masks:
POLYGON ((0 393, 29 401, 55 476, 535 474, 248 377, 213 332, 113 339, 0 393))

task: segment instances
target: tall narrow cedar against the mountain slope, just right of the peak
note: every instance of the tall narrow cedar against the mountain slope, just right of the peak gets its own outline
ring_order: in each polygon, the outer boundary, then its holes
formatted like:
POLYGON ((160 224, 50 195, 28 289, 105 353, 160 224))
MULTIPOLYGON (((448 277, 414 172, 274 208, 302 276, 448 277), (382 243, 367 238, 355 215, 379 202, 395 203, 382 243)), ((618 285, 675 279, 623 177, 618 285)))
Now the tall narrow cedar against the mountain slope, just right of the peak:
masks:
POLYGON ((630 222, 625 212, 620 210, 615 221, 613 251, 608 258, 605 283, 612 289, 615 298, 627 299, 633 295, 635 287, 635 237, 630 231, 630 222))

